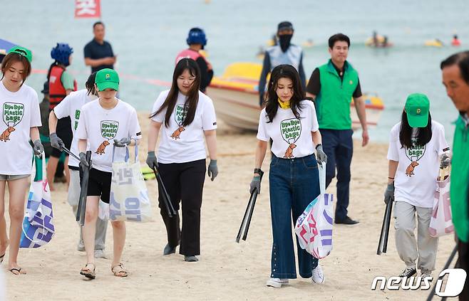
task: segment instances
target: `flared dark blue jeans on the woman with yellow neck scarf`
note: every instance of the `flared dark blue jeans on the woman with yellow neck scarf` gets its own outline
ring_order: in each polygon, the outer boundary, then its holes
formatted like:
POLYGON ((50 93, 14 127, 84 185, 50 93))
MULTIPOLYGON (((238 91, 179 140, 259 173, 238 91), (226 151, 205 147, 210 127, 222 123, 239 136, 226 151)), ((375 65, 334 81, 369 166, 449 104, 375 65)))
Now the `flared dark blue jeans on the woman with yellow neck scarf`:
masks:
MULTIPOLYGON (((270 162, 270 211, 272 213, 272 278, 297 278, 292 240, 293 225, 306 206, 319 196, 319 172, 311 154, 294 159, 273 157, 270 162)), ((318 260, 300 248, 297 238, 299 275, 310 278, 318 260)))

